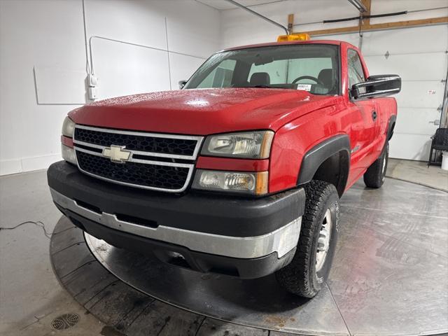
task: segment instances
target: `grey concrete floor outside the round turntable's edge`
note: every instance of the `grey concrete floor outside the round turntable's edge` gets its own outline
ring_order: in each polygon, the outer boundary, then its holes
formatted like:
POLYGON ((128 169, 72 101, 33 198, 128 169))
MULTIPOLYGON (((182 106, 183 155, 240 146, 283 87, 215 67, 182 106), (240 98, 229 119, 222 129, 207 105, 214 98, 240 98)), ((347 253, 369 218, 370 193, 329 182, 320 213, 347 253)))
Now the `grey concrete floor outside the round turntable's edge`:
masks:
MULTIPOLYGON (((395 160, 388 169, 389 176, 448 190, 448 174, 440 172, 395 160)), ((53 273, 49 235, 59 218, 45 171, 0 177, 0 335, 62 335, 50 323, 67 313, 80 321, 63 335, 117 335, 75 302, 53 273), (34 223, 15 228, 25 221, 34 223)))

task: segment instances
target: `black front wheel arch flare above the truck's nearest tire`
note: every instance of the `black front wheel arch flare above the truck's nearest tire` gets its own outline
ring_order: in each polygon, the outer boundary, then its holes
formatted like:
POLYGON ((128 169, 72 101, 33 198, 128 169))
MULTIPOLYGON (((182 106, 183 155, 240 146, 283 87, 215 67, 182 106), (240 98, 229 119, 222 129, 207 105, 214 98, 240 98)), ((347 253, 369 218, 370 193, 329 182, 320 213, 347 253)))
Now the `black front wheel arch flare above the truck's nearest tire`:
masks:
POLYGON ((344 193, 350 169, 350 139, 339 134, 305 153, 297 176, 297 186, 313 179, 332 183, 339 194, 344 193))

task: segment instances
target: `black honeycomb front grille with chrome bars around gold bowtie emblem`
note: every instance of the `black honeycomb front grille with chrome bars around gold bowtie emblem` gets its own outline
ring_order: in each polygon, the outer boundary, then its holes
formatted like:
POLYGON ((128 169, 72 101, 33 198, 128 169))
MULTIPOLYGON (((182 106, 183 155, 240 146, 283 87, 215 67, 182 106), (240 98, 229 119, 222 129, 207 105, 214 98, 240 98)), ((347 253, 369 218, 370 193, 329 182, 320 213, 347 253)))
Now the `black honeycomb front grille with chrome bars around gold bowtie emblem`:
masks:
POLYGON ((73 144, 82 172, 137 188, 181 192, 190 183, 202 137, 151 134, 76 125, 73 144), (114 162, 105 148, 131 154, 114 162), (121 151, 120 150, 120 151, 121 151))

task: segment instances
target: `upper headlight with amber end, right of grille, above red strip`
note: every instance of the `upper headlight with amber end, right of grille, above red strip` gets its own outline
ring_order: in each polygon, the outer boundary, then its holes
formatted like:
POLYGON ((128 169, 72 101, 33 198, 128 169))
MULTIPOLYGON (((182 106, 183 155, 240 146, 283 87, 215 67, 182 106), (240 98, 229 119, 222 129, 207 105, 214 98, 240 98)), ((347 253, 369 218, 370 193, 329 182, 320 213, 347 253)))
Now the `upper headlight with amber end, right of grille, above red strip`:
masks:
POLYGON ((271 151, 272 131, 211 135, 205 139, 202 155, 228 158, 267 159, 271 151))

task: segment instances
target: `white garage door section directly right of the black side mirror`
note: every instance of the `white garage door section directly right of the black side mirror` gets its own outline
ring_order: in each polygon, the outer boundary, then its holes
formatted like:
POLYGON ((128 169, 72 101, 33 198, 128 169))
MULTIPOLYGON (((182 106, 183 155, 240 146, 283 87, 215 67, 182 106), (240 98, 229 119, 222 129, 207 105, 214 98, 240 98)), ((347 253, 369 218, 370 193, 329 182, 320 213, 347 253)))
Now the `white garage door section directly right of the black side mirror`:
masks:
POLYGON ((442 81, 403 81, 401 92, 394 97, 399 108, 434 108, 442 104, 444 83, 442 81))

